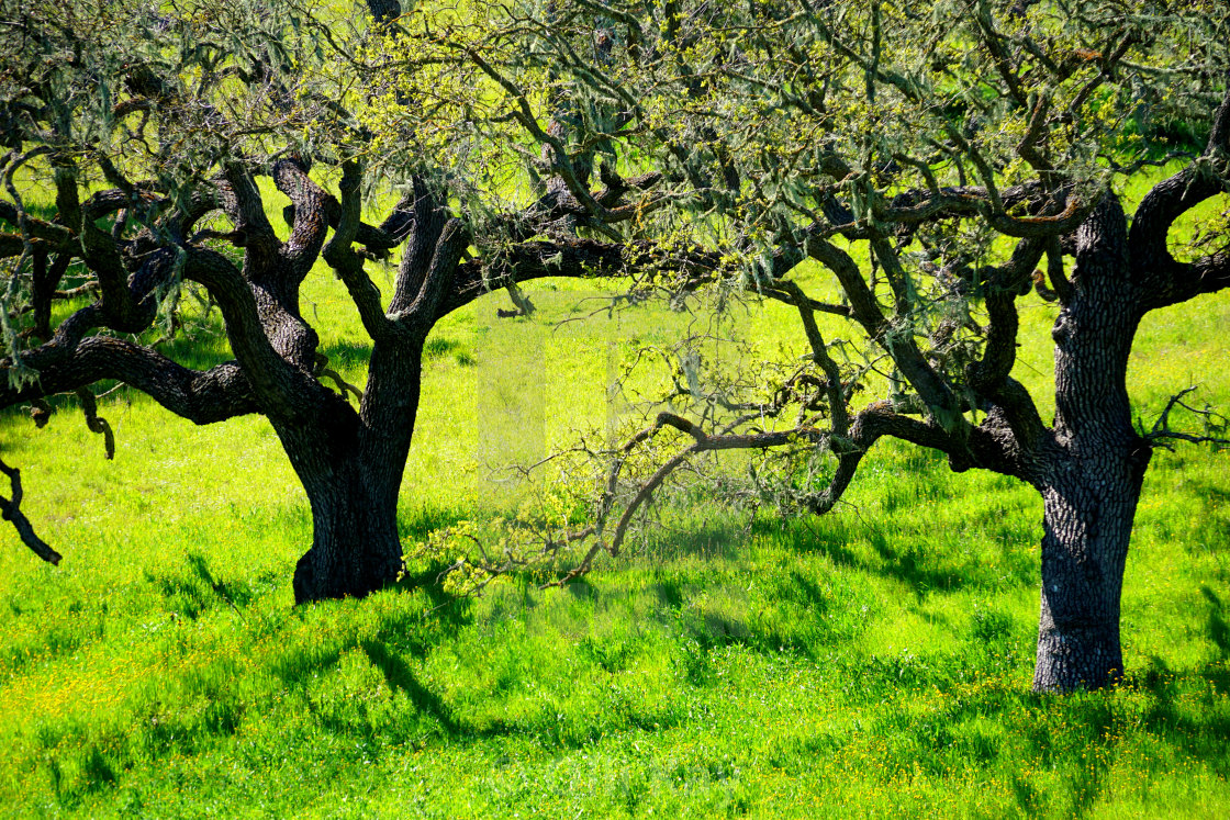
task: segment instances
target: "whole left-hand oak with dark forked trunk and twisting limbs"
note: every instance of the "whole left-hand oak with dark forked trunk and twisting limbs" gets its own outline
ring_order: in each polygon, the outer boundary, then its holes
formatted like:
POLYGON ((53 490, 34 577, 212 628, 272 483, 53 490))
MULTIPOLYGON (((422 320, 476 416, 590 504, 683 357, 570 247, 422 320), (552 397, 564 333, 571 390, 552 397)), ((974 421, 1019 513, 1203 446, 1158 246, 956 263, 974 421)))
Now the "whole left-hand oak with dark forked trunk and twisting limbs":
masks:
MULTIPOLYGON (((32 404, 37 419, 46 397, 76 392, 103 430, 93 386, 122 382, 198 424, 264 416, 311 505, 296 601, 364 595, 401 572, 397 495, 423 343, 442 316, 520 280, 656 258, 568 227, 626 218, 652 175, 606 168, 583 193, 599 215, 549 171, 520 204, 483 202, 466 176, 490 173, 482 157, 461 157, 474 159, 467 171, 429 144, 456 106, 394 95, 389 118, 364 122, 355 112, 396 86, 381 45, 397 4, 370 4, 370 27, 327 4, 255 0, 22 0, 5 11, 0 407, 32 404), (274 197, 289 200, 280 215, 274 197), (384 203, 383 221, 363 220, 364 202, 384 203), (392 254, 381 293, 368 268, 392 254), (321 261, 371 339, 362 388, 330 370, 303 310, 321 261), (181 329, 188 289, 220 310, 232 360, 197 370, 160 350, 181 329)), ((59 562, 20 509, 20 475, 2 468, 4 516, 59 562)))

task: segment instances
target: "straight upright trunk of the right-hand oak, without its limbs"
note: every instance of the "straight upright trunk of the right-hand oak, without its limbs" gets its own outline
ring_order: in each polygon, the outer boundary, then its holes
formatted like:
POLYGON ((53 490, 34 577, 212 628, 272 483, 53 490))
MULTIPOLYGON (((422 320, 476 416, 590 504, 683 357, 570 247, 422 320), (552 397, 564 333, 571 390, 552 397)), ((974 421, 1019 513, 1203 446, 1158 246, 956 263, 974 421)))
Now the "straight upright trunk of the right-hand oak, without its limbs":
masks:
POLYGON ((1042 611, 1034 691, 1123 674, 1119 594, 1150 449, 1132 427, 1128 357, 1140 321, 1123 210, 1107 197, 1077 232, 1073 294, 1055 341, 1054 444, 1043 498, 1042 611))

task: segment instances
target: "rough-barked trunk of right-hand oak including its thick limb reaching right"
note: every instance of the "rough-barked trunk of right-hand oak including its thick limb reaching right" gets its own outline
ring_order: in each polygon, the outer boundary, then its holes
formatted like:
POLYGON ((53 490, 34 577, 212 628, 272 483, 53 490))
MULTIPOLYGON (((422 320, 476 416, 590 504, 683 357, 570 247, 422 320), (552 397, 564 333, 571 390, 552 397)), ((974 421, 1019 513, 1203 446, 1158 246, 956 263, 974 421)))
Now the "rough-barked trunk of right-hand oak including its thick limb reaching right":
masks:
MULTIPOLYGON (((1228 148, 1230 92, 1205 157, 1228 148)), ((1224 252, 1184 264, 1167 250, 1175 220, 1221 189, 1193 164, 1154 187, 1130 231, 1107 195, 1076 234, 1076 267, 1052 332, 1055 446, 1036 482, 1046 510, 1036 691, 1098 688, 1123 674, 1119 596, 1153 452, 1132 425, 1128 357, 1145 312, 1230 285, 1224 252)))

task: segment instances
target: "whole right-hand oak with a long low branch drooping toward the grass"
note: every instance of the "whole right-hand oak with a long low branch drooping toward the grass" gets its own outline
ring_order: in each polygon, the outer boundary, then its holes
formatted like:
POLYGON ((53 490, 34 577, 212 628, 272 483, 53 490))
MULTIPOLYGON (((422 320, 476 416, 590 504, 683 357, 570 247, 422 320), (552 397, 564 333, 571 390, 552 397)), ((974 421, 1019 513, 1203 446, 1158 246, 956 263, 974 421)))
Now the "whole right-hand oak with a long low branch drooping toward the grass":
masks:
MULTIPOLYGON (((1146 313, 1199 310, 1203 294, 1230 286, 1225 213, 1202 211, 1199 242, 1172 231, 1230 184, 1225 7, 510 9, 517 34, 506 37, 432 25, 426 11, 403 20, 437 64, 490 77, 507 119, 531 125, 530 107, 547 96, 569 112, 566 128, 535 134, 557 165, 599 152, 661 172, 656 195, 667 207, 638 218, 635 235, 696 243, 723 261, 680 270, 676 289, 724 284, 791 305, 809 359, 752 392, 706 392, 680 365, 676 403, 700 409, 668 407, 608 452, 590 525, 541 546, 554 554, 587 543, 573 575, 587 572, 603 551, 619 551, 673 471, 721 450, 790 454, 772 476, 759 473, 756 489, 791 514, 823 514, 877 441, 899 439, 946 454, 954 471, 989 470, 1038 491, 1034 688, 1118 680, 1124 561, 1150 455, 1182 439, 1225 443, 1224 433, 1172 427, 1186 393, 1139 428, 1127 388, 1146 313), (1167 162, 1170 176, 1129 216, 1123 182, 1167 162), (1026 299, 1058 305, 1049 420, 1014 377, 1026 299), (673 436, 675 450, 659 446, 646 468, 641 454, 659 436, 673 436)), ((576 177, 562 175, 579 193, 576 177)), ((1205 419, 1216 427, 1218 417, 1205 419)), ((483 569, 481 557, 475 564, 483 569)))

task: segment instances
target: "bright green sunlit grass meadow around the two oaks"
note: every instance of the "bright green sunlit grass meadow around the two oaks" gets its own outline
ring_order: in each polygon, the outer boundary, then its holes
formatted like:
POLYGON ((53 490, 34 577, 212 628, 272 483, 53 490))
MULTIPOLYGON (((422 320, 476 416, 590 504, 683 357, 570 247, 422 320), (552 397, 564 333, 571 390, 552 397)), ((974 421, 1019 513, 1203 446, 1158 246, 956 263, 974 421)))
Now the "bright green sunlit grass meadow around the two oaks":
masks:
MULTIPOLYGON (((273 207, 280 202, 271 198, 273 207)), ((379 275, 379 274, 378 274, 379 275)), ((428 342, 402 487, 405 580, 294 607, 311 541, 269 425, 198 428, 118 390, 103 459, 75 401, 0 417, 23 510, 65 558, 0 548, 0 814, 12 816, 1225 816, 1230 811, 1230 451, 1159 451, 1123 601, 1127 679, 1031 695, 1042 504, 881 446, 819 519, 683 508, 584 580, 513 574, 477 597, 421 545, 508 514, 508 481, 609 414, 611 350, 686 316, 590 313, 590 285, 493 295, 428 342)), ((362 384, 344 289, 305 290, 362 384)), ((1015 375, 1052 403, 1054 307, 1026 300, 1015 375)), ((749 336, 804 349, 780 306, 749 336)), ((1130 381, 1230 407, 1230 294, 1151 315, 1130 381)), ((208 322, 167 349, 228 358, 208 322)), ((2 532, 2 531, 0 531, 2 532)))

